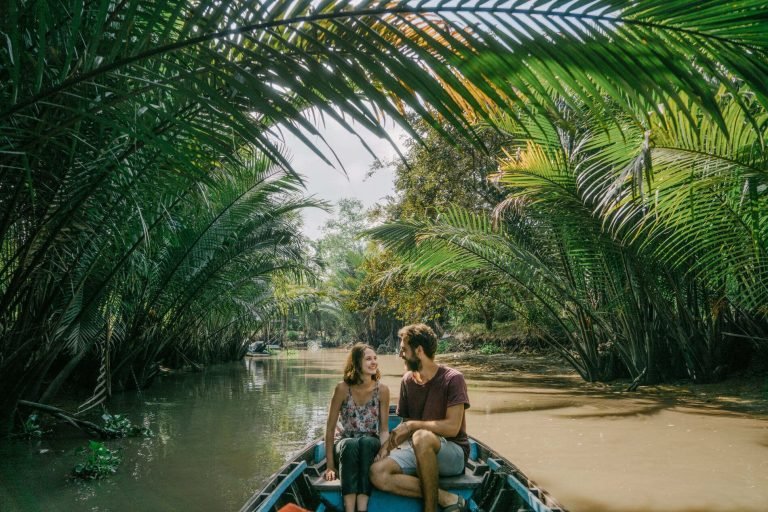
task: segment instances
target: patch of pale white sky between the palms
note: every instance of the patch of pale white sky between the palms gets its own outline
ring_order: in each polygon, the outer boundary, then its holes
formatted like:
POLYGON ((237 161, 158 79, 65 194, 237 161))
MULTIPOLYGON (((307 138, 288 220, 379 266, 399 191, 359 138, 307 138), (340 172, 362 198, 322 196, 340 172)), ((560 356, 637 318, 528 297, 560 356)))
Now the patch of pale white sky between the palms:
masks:
MULTIPOLYGON (((391 121, 386 126, 390 136, 400 145, 402 150, 405 132, 391 121)), ((291 155, 289 160, 293 164, 293 168, 305 177, 307 195, 315 195, 317 198, 331 203, 336 203, 339 199, 356 198, 368 208, 383 201, 386 196, 394 194, 393 169, 379 169, 372 177, 366 178, 366 174, 368 174, 375 159, 363 147, 357 136, 350 134, 341 125, 327 117, 325 126, 318 128, 323 133, 328 145, 336 152, 336 156, 341 160, 347 174, 344 174, 338 164, 336 164, 335 169, 328 166, 320 157, 304 146, 302 141, 284 132, 288 154, 291 155)), ((379 160, 389 162, 397 157, 397 153, 389 141, 371 134, 359 125, 354 125, 354 128, 365 138, 366 143, 379 160)), ((324 148, 319 139, 311 137, 310 139, 317 140, 319 147, 324 148)), ((328 155, 328 159, 335 163, 333 155, 328 153, 327 148, 325 153, 328 155)), ((304 210, 303 217, 305 234, 312 239, 317 239, 321 235, 320 228, 331 217, 331 214, 312 208, 304 210)))

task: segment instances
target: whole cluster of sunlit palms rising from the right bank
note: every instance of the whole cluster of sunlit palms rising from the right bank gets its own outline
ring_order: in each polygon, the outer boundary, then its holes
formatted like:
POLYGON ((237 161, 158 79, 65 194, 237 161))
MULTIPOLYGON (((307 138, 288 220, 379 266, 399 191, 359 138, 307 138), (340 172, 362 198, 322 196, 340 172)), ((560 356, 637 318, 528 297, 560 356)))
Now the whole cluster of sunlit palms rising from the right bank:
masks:
POLYGON ((585 379, 722 378, 763 344, 768 183, 763 129, 720 102, 735 140, 694 106, 648 125, 564 104, 499 119, 516 139, 496 176, 503 222, 452 208, 373 234, 412 274, 511 290, 585 379))

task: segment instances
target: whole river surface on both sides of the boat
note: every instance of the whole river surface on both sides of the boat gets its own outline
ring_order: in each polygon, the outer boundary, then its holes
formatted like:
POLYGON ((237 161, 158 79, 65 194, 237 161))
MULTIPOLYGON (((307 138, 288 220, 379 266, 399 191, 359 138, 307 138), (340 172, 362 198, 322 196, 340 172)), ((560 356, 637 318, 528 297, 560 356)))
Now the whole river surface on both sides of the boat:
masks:
MULTIPOLYGON (((155 436, 109 441, 123 462, 102 481, 67 476, 86 443, 78 431, 2 440, 0 511, 237 511, 322 435, 343 358, 321 350, 217 365, 114 397, 111 412, 155 436)), ((394 400, 402 362, 380 362, 394 400)), ((585 391, 540 371, 467 376, 470 434, 574 512, 768 510, 768 411, 585 391)))

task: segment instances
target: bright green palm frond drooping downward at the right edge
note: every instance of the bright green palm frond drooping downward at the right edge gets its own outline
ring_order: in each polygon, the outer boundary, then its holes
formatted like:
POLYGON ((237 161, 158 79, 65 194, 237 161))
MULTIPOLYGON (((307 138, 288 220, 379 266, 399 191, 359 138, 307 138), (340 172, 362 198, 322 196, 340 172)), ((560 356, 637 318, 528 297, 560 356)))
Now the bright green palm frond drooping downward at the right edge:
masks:
POLYGON ((645 137, 636 129, 624 139, 597 136, 603 151, 585 177, 617 236, 760 312, 768 299, 766 114, 749 95, 741 103, 760 130, 730 97, 722 99, 728 136, 695 106, 694 122, 673 108, 653 118, 645 137), (638 161, 639 173, 632 170, 638 161))

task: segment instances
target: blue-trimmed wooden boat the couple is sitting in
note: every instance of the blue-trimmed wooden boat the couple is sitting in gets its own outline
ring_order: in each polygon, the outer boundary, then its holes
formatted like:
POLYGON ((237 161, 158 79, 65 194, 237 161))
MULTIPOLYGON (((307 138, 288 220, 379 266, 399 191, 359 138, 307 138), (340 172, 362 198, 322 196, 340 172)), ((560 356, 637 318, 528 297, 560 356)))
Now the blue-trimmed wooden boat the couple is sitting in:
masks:
MULTIPOLYGON (((390 407, 390 429, 401 421, 390 407)), ((326 482, 325 443, 305 446, 275 473, 240 512, 276 512, 289 503, 315 512, 342 511, 341 483, 326 482)), ((565 512, 546 491, 514 464, 485 444, 470 437, 470 457, 464 474, 440 479, 440 488, 459 494, 469 509, 482 512, 565 512)), ((395 496, 377 489, 368 502, 369 512, 421 512, 421 500, 395 496)))

